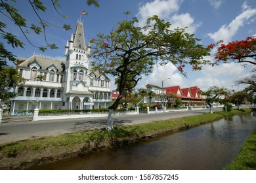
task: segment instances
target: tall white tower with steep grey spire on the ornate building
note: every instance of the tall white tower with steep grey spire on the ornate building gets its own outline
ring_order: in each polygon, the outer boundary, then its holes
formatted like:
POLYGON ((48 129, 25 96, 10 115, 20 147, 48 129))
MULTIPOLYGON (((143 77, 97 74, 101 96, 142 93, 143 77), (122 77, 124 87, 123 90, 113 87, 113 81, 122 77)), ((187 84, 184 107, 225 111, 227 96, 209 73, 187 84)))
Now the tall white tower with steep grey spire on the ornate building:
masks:
POLYGON ((83 22, 77 21, 75 33, 65 46, 66 71, 64 73, 64 97, 66 109, 85 109, 84 104, 93 101, 89 92, 89 59, 91 46, 85 46, 83 22), (86 101, 86 102, 85 102, 86 101))

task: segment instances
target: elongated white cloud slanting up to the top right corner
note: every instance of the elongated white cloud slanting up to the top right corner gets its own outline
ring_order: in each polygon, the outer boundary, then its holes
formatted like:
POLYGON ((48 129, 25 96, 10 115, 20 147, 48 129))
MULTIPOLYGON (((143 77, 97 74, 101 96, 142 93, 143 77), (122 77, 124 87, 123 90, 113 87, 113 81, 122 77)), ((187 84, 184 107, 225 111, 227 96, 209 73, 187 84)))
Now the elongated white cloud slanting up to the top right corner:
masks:
POLYGON ((230 42, 240 27, 243 27, 244 24, 250 24, 250 22, 253 22, 253 20, 251 20, 253 19, 253 16, 256 16, 256 8, 251 8, 247 3, 244 3, 242 5, 242 13, 236 16, 230 24, 224 24, 217 32, 208 33, 207 35, 215 42, 218 42, 221 39, 223 39, 224 43, 230 42))

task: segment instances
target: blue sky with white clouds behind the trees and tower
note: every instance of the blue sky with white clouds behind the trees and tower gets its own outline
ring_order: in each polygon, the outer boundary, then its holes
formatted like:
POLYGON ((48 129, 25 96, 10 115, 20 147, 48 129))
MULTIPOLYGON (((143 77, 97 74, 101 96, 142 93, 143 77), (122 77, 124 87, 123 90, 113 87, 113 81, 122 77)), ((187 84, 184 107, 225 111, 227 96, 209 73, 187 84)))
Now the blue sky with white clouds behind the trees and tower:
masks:
MULTIPOLYGON (((49 3, 49 2, 48 2, 49 3)), ((86 44, 90 39, 96 37, 97 33, 109 34, 116 22, 126 18, 123 12, 129 10, 130 18, 137 16, 139 25, 144 25, 146 18, 157 14, 161 19, 169 21, 173 27, 188 27, 189 33, 194 33, 195 37, 201 39, 200 44, 207 46, 210 43, 223 39, 224 43, 245 39, 248 36, 256 35, 256 1, 255 0, 99 0, 100 8, 88 7, 85 0, 64 1, 59 0, 62 8, 58 10, 67 15, 65 20, 51 7, 47 5, 47 13, 40 16, 54 25, 70 24, 72 30, 65 31, 56 27, 47 27, 47 41, 56 43, 58 50, 48 50, 41 53, 38 49, 31 46, 22 36, 22 33, 9 20, 0 14, 1 20, 9 22, 7 31, 16 34, 26 44, 25 49, 16 48, 11 51, 18 57, 29 58, 33 53, 63 59, 64 46, 74 33, 75 25, 80 17, 80 12, 85 10, 88 15, 81 16, 85 31, 86 44), (3 19, 2 19, 3 18, 3 19)), ((32 9, 27 1, 16 3, 20 13, 26 17, 28 24, 39 22, 38 18, 32 14, 32 9)), ((44 44, 42 36, 28 35, 30 41, 36 46, 44 44)), ((4 42, 6 46, 9 46, 4 42)), ((211 59, 212 58, 208 58, 211 59)), ((177 86, 186 88, 198 86, 202 90, 207 90, 209 86, 223 86, 234 90, 240 90, 234 86, 234 80, 245 75, 251 74, 252 65, 242 66, 239 63, 226 63, 217 67, 205 65, 202 71, 192 71, 190 67, 185 67, 188 78, 180 75, 176 67, 171 63, 165 67, 157 66, 150 76, 143 76, 138 88, 146 84, 161 86, 177 86)), ((113 83, 113 82, 112 82, 113 83)), ((114 86, 112 84, 112 89, 114 86)))

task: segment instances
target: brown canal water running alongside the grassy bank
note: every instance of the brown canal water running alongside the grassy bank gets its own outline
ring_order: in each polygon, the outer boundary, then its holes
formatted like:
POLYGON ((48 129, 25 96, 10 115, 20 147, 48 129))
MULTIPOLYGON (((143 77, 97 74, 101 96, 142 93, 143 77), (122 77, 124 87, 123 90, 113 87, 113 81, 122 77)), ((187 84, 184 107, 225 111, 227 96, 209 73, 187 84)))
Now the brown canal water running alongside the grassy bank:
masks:
POLYGON ((223 169, 256 128, 256 116, 232 116, 172 135, 33 169, 223 169))

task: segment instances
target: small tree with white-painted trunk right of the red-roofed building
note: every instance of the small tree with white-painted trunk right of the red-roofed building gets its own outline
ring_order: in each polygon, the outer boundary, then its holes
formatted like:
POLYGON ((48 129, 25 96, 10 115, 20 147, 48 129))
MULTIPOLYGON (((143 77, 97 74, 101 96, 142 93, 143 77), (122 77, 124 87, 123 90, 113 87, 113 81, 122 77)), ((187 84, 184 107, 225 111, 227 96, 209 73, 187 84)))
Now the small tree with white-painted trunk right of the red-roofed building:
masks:
POLYGON ((205 102, 207 105, 209 105, 210 113, 213 113, 213 103, 219 102, 220 97, 225 97, 228 93, 228 90, 226 88, 219 88, 219 86, 212 86, 207 91, 202 92, 202 95, 204 95, 205 102))

